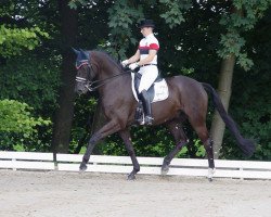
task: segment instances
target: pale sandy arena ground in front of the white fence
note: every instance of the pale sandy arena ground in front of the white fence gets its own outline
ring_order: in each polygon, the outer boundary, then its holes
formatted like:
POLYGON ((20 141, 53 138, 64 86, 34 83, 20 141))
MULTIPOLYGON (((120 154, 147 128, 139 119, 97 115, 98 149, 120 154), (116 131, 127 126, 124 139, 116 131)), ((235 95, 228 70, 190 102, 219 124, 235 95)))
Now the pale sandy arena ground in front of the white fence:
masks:
POLYGON ((271 181, 0 170, 1 217, 270 217, 271 181))

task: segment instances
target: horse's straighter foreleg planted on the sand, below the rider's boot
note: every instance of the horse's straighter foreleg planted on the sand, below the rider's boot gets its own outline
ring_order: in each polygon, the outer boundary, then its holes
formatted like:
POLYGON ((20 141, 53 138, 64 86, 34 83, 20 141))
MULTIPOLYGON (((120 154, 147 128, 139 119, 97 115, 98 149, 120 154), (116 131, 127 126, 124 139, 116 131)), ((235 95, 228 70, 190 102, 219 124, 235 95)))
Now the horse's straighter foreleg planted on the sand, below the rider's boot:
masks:
POLYGON ((127 149, 128 154, 131 157, 133 169, 132 171, 128 175, 128 180, 134 180, 136 179, 136 174, 140 170, 140 165, 139 162, 136 157, 136 153, 132 146, 131 142, 131 137, 130 137, 130 131, 128 129, 119 131, 119 136, 125 142, 125 146, 127 149))

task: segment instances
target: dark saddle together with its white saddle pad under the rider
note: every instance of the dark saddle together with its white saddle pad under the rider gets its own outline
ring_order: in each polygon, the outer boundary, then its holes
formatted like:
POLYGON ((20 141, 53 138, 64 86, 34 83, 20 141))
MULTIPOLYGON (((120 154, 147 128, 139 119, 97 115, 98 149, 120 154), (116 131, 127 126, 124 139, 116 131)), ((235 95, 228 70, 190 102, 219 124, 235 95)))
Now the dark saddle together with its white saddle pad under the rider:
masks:
MULTIPOLYGON (((138 92, 141 76, 142 75, 140 73, 131 73, 131 77, 132 77, 131 87, 132 87, 133 97, 139 102, 137 110, 136 110, 134 119, 139 124, 142 124, 142 119, 144 119, 143 105, 141 101, 139 100, 139 92, 138 92)), ((149 98, 151 99, 151 103, 166 100, 168 98, 168 86, 167 86, 166 80, 162 78, 160 75, 158 75, 158 77, 156 78, 154 84, 149 88, 146 93, 149 94, 149 98)))

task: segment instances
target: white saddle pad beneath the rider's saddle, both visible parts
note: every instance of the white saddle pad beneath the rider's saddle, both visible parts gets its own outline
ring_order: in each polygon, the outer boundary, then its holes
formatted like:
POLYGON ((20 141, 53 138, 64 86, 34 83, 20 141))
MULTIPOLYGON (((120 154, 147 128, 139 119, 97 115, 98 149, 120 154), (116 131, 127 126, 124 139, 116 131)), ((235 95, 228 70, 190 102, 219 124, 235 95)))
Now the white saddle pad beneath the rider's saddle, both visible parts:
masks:
MULTIPOLYGON (((136 92, 134 85, 133 85, 134 73, 131 73, 131 77, 132 77, 132 80, 131 80, 132 93, 136 100, 139 101, 138 94, 136 92)), ((160 81, 154 82, 154 98, 152 100, 152 103, 166 100, 167 98, 168 98, 168 86, 167 86, 166 80, 163 78, 160 81)))

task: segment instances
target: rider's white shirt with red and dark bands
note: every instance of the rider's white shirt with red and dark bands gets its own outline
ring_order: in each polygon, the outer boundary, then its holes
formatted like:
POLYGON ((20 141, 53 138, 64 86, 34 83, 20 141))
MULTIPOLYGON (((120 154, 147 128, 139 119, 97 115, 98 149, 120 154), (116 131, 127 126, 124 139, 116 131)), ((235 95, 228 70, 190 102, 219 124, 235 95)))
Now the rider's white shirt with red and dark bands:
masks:
MULTIPOLYGON (((159 42, 153 34, 150 34, 145 38, 141 39, 139 43, 140 60, 145 59, 149 55, 150 50, 159 50, 159 42)), ((157 54, 150 64, 157 64, 157 54)))

